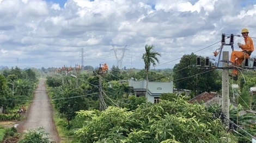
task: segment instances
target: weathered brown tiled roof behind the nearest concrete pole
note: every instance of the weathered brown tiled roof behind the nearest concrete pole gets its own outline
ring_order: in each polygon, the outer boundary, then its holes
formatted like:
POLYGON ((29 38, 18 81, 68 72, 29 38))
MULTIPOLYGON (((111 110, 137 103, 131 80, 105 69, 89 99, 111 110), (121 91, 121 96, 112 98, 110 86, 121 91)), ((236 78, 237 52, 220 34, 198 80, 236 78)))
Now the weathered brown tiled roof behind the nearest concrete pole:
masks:
MULTIPOLYGON (((194 103, 194 102, 200 103, 201 101, 204 102, 204 105, 206 107, 210 107, 211 105, 215 105, 216 103, 218 105, 222 105, 222 96, 215 92, 210 92, 210 93, 204 92, 192 98, 190 100, 190 103, 194 103)), ((233 104, 234 108, 237 108, 237 105, 235 102, 229 100, 229 103, 233 104)))

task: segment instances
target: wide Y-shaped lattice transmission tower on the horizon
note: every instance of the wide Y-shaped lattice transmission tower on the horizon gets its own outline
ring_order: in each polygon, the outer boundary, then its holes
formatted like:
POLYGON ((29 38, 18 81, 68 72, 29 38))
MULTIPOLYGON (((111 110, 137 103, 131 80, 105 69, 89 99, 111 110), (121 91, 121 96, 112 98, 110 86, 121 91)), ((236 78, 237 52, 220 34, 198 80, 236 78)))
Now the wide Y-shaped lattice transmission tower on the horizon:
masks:
POLYGON ((114 53, 115 53, 115 59, 117 59, 117 67, 119 69, 123 68, 123 59, 124 59, 124 55, 125 55, 125 51, 129 50, 126 49, 127 45, 124 48, 115 48, 114 46, 112 46, 114 53), (120 51, 120 52, 119 52, 120 51))

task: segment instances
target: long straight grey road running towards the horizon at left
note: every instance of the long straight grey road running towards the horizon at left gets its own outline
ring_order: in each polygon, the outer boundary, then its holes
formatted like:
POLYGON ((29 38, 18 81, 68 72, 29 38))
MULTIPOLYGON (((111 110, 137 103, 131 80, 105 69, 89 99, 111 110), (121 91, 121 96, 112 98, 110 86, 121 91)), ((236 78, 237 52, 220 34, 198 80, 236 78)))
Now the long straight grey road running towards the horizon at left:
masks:
POLYGON ((59 142, 56 127, 53 122, 53 112, 44 86, 44 79, 40 79, 39 87, 35 91, 34 101, 28 113, 25 130, 44 127, 45 132, 50 133, 51 141, 59 142))

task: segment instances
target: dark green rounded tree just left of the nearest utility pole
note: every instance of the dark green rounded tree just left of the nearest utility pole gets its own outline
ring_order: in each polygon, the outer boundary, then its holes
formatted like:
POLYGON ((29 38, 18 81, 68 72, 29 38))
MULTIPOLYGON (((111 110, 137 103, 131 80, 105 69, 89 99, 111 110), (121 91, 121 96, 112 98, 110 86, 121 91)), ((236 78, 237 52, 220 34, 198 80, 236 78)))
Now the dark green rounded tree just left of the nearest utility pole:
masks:
MULTIPOLYGON (((212 70, 207 72, 204 69, 198 69, 196 67, 196 60, 197 55, 192 53, 190 55, 184 55, 180 62, 175 64, 173 68, 175 87, 178 89, 192 90, 194 94, 200 94, 205 91, 219 91, 221 89, 222 80, 218 71, 212 70)), ((204 59, 202 60, 202 66, 204 66, 204 59)))

